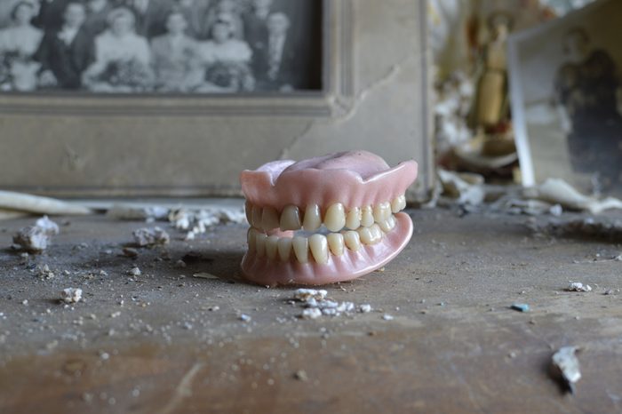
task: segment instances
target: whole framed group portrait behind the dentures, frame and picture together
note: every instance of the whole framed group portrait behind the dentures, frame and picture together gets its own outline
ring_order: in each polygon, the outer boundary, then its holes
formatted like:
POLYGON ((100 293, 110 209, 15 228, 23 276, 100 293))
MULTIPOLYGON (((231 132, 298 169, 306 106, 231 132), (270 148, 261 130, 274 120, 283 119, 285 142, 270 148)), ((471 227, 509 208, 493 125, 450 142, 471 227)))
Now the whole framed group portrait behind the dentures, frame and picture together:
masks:
POLYGON ((367 149, 433 174, 426 2, 4 0, 0 187, 239 195, 275 159, 367 149))

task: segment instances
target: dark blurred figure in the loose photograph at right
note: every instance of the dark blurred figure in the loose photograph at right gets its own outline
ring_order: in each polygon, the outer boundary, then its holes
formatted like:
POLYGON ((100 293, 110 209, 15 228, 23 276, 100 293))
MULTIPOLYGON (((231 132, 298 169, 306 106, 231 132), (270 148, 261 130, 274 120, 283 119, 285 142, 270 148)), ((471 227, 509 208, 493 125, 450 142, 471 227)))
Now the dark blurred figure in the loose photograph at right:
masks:
POLYGON ((555 101, 577 171, 600 172, 603 186, 619 185, 622 115, 618 68, 609 52, 594 48, 584 28, 563 39, 567 61, 555 77, 555 101))

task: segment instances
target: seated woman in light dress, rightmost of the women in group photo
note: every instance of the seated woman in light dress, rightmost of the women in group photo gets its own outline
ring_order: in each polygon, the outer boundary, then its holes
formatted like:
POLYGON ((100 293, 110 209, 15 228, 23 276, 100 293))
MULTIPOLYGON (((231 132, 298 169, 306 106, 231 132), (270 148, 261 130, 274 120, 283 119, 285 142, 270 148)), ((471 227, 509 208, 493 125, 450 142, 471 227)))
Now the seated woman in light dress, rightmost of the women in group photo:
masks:
POLYGON ((251 74, 252 52, 246 42, 234 38, 230 15, 220 14, 211 28, 211 40, 199 44, 204 84, 199 92, 250 92, 255 81, 251 74))

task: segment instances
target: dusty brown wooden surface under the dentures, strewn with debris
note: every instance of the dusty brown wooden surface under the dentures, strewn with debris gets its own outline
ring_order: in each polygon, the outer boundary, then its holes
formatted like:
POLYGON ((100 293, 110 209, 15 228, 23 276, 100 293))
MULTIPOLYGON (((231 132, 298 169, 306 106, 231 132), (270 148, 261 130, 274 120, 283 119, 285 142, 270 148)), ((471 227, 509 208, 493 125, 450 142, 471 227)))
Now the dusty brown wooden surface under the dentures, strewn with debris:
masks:
MULTIPOLYGON (((416 234, 384 272, 327 288, 374 311, 315 321, 287 303, 293 288, 236 280, 243 226, 191 243, 171 230, 128 259, 144 223, 70 219, 44 255, 4 249, 0 412, 622 412, 622 262, 594 262, 619 245, 535 237, 518 216, 411 215, 416 234), (84 303, 60 305, 67 287, 84 303), (575 395, 549 374, 566 345, 582 348, 575 395)), ((0 246, 32 221, 1 222, 0 246)))

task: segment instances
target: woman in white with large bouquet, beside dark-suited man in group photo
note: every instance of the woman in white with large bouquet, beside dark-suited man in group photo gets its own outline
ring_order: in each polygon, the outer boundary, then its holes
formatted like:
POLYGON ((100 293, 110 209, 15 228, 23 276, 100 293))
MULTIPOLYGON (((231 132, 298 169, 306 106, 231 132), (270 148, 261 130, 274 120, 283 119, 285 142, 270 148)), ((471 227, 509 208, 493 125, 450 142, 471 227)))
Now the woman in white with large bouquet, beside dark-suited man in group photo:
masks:
POLYGON ((93 92, 146 92, 153 86, 147 39, 135 32, 136 18, 126 7, 108 14, 108 28, 95 38, 95 61, 83 84, 93 92))

